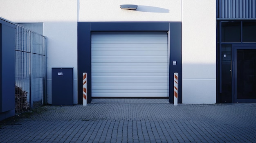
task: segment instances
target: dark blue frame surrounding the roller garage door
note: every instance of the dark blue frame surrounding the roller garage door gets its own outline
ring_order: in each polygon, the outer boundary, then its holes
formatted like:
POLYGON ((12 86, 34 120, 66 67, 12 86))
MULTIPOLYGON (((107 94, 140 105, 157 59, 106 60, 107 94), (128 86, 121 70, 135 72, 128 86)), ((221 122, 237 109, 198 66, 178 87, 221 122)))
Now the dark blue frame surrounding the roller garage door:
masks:
POLYGON ((178 73, 178 102, 182 103, 182 22, 78 22, 78 103, 83 102, 83 73, 87 73, 87 103, 92 95, 91 35, 93 31, 166 31, 169 33, 169 102, 173 103, 174 73, 178 73), (175 61, 176 64, 173 64, 175 61))

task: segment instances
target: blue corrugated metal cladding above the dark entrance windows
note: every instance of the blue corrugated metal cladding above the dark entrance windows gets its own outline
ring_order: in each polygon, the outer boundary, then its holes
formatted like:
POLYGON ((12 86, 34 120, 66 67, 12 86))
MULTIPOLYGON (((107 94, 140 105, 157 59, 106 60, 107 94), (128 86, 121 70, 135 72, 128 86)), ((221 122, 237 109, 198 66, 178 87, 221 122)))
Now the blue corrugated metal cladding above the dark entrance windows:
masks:
POLYGON ((217 18, 256 18, 256 0, 217 0, 217 18))

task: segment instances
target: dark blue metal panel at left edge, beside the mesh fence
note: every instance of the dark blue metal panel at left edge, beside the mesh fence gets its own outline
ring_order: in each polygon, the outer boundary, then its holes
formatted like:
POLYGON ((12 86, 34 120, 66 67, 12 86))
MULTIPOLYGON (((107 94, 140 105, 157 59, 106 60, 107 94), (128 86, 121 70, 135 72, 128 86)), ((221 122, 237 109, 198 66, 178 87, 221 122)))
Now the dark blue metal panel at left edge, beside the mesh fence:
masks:
POLYGON ((0 20, 0 27, 0 112, 7 112, 15 110, 15 25, 4 20, 0 20))

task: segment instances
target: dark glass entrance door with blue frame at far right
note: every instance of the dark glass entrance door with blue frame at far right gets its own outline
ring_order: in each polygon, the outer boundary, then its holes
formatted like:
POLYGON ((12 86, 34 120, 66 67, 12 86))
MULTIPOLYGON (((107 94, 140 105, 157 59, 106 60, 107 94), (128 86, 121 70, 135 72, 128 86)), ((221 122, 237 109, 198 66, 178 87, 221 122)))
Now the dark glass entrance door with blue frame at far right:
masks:
POLYGON ((256 102, 256 46, 234 46, 234 101, 256 102))

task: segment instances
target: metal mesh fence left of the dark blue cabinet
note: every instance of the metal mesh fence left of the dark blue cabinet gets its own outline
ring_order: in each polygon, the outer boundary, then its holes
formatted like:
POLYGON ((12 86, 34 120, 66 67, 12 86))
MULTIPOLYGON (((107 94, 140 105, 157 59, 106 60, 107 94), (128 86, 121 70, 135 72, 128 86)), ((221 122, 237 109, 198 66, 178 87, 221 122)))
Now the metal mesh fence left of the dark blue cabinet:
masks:
POLYGON ((16 25, 16 113, 42 106, 46 92, 46 37, 16 25))

